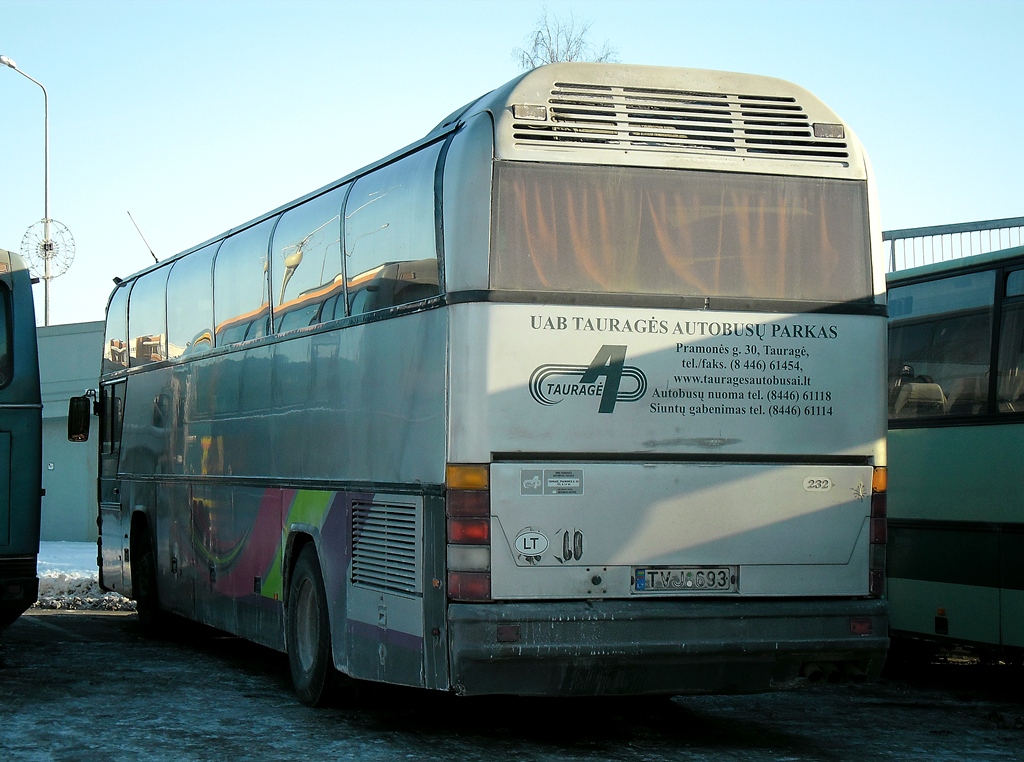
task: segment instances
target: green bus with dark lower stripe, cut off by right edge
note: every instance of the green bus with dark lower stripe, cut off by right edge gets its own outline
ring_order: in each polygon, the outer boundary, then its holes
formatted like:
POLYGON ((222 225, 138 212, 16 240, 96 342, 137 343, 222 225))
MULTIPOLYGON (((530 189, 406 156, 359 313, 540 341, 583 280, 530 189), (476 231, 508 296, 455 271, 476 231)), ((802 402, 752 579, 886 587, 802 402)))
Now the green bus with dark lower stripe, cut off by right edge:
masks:
MULTIPOLYGON (((1024 218, 961 227, 977 241, 986 225, 1018 245, 888 277, 887 593, 894 639, 1013 660, 1024 653, 1024 218)), ((948 256, 955 227, 901 232, 944 236, 948 256)))

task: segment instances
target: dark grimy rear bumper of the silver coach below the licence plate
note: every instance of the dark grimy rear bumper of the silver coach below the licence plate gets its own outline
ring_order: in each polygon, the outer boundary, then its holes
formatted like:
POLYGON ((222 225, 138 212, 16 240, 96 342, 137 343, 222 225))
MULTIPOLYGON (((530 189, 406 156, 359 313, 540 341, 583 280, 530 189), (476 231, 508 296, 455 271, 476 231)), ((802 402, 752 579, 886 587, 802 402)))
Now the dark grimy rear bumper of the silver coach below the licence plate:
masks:
POLYGON ((880 599, 452 604, 451 684, 467 695, 672 695, 877 679, 887 610, 880 599))

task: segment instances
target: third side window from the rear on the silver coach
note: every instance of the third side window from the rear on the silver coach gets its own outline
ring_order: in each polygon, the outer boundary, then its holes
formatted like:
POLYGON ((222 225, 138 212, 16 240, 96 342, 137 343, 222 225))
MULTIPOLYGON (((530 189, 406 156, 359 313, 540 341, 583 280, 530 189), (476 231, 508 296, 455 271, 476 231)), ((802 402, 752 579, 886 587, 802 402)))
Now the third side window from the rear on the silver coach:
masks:
POLYGON ((270 231, 274 219, 224 240, 214 265, 217 345, 265 336, 270 321, 270 231))

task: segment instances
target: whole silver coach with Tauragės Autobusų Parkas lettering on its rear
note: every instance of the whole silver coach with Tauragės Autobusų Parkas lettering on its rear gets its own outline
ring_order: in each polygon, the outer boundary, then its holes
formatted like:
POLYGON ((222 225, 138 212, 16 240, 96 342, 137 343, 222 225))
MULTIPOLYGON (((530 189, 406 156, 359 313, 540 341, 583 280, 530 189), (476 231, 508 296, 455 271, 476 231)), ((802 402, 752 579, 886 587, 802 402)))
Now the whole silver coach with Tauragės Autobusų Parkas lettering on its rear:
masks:
POLYGON ((877 676, 880 249, 801 88, 524 74, 118 285, 101 584, 307 704, 877 676))

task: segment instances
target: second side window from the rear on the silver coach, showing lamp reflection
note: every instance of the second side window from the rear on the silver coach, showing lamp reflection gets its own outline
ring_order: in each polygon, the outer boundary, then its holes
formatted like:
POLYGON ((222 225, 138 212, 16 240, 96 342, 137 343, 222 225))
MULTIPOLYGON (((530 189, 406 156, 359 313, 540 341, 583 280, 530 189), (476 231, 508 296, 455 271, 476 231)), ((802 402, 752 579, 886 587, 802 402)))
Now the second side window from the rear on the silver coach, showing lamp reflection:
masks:
POLYGON ((316 322, 325 299, 344 290, 341 205, 347 186, 284 214, 273 232, 273 324, 288 331, 316 322))

